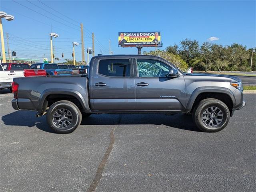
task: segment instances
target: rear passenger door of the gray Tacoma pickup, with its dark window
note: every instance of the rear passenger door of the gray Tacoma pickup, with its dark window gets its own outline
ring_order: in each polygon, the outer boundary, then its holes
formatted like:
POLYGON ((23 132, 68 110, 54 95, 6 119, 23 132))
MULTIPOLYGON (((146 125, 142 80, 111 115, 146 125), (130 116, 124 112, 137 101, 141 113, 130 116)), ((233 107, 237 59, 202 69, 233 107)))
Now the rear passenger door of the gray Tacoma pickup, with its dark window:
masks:
POLYGON ((93 111, 129 111, 135 108, 135 84, 130 58, 97 58, 90 70, 93 111))

